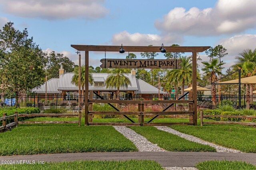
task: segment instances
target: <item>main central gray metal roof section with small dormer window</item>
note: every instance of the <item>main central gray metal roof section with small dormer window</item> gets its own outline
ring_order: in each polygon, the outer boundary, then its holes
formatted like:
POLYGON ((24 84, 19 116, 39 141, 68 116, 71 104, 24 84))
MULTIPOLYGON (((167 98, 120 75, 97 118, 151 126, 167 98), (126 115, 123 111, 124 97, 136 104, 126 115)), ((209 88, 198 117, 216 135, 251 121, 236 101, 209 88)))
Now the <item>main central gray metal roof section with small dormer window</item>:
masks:
MULTIPOLYGON (((110 75, 110 73, 91 73, 91 74, 94 79, 94 82, 98 82, 98 80, 103 80, 103 79, 106 80, 107 77, 110 75)), ((74 75, 74 73, 72 73, 72 72, 66 72, 64 74, 61 74, 60 81, 58 84, 58 90, 70 90, 70 91, 78 90, 78 86, 76 86, 75 84, 73 84, 71 82, 73 75, 74 75)), ((126 90, 136 91, 136 90, 138 90, 135 75, 132 75, 132 74, 124 74, 124 75, 129 78, 131 85, 128 85, 128 88, 120 87, 120 91, 126 91, 126 90)), ((100 82, 102 82, 102 81, 100 81, 100 82)), ((89 90, 109 91, 109 90, 117 90, 117 89, 116 88, 106 88, 106 84, 104 83, 104 85, 102 87, 94 87, 92 84, 89 84, 89 90)))

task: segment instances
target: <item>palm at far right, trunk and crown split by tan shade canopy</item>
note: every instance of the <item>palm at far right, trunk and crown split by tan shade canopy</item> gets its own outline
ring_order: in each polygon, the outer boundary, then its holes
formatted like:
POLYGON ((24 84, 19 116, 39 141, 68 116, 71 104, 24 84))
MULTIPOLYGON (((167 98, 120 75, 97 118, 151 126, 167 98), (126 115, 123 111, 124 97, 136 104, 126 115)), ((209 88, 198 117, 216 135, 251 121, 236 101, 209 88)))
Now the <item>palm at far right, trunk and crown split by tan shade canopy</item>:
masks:
MULTIPOLYGON (((255 67, 255 63, 251 62, 251 61, 245 61, 244 63, 238 63, 236 64, 236 66, 238 67, 238 69, 241 70, 241 77, 250 77, 255 75, 255 71, 256 71, 256 67, 255 67)), ((252 84, 246 84, 246 108, 249 109, 250 108, 250 98, 249 96, 252 96, 252 84)))

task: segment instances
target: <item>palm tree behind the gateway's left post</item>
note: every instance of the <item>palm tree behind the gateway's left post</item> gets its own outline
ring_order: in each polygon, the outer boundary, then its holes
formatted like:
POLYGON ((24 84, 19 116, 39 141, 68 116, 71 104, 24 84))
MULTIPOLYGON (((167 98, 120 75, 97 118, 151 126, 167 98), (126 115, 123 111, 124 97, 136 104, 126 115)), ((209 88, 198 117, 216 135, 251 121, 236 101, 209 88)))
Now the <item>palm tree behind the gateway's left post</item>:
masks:
MULTIPOLYGON (((79 83, 79 67, 76 66, 74 68, 74 76, 72 77, 71 82, 78 85, 79 83)), ((81 66, 81 86, 82 86, 82 96, 84 96, 84 80, 85 80, 85 66, 82 65, 81 66)), ((89 83, 92 84, 93 82, 93 78, 92 78, 92 74, 89 73, 89 83)))

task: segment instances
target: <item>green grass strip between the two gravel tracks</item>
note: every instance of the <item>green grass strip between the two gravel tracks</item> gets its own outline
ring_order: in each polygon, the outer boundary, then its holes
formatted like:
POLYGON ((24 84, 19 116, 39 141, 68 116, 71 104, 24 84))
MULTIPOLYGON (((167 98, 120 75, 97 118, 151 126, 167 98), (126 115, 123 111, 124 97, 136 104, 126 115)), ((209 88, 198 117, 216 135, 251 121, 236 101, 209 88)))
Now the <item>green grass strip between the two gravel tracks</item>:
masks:
POLYGON ((146 137, 148 141, 157 144, 159 147, 169 151, 183 151, 183 152, 216 152, 216 149, 208 145, 191 142, 177 135, 160 131, 155 127, 130 127, 136 133, 146 137))

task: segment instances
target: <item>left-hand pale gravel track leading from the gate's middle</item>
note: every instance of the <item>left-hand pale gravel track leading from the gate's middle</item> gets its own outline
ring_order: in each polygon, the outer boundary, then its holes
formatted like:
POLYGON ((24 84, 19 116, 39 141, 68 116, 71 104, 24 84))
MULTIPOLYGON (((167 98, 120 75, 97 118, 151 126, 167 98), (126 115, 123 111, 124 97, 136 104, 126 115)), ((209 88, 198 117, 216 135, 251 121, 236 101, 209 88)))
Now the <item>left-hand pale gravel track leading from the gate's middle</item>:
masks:
POLYGON ((137 147, 139 152, 164 152, 166 150, 158 147, 156 144, 151 143, 142 135, 139 135, 134 130, 125 126, 114 126, 114 128, 122 133, 127 139, 132 141, 137 147))

